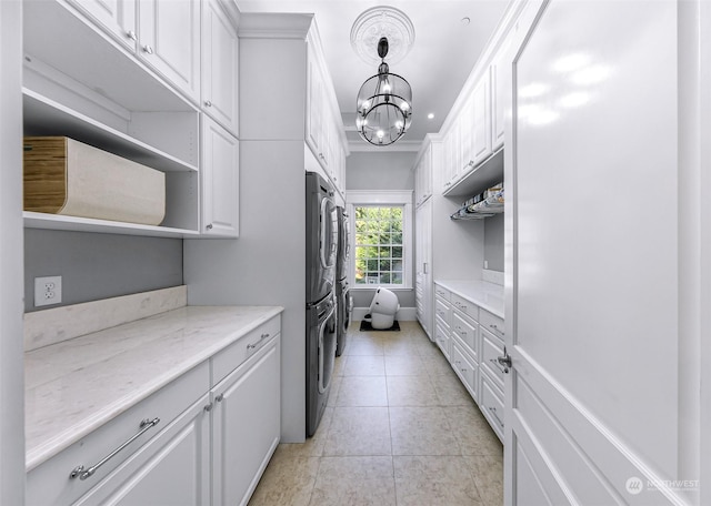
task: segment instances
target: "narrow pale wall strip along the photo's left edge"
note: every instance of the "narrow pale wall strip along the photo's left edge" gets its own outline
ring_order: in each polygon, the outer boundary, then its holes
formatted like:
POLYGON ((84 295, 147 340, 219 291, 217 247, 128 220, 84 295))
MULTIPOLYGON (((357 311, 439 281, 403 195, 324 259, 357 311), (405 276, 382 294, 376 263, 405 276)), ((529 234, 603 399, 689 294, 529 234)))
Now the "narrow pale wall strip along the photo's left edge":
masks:
POLYGON ((22 4, 0 2, 0 504, 24 503, 22 4))

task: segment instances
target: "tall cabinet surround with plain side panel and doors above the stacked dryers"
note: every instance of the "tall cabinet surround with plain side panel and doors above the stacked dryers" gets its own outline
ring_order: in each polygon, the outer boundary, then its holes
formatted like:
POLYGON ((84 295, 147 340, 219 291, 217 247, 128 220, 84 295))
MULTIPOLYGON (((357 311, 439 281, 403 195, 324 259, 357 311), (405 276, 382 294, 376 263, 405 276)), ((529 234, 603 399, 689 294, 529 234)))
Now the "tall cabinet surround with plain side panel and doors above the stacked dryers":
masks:
POLYGON ((281 438, 303 442, 306 171, 344 189, 346 134, 311 16, 242 13, 239 38, 240 206, 249 213, 238 241, 183 242, 188 302, 284 307, 281 438))

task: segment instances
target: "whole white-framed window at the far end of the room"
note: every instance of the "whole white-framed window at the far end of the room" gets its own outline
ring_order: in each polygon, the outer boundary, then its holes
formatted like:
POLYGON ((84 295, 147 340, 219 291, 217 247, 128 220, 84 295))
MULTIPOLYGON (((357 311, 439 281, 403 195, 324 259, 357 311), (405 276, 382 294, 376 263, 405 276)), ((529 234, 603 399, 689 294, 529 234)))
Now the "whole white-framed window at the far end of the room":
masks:
POLYGON ((411 287, 411 192, 360 193, 349 192, 351 287, 411 287))

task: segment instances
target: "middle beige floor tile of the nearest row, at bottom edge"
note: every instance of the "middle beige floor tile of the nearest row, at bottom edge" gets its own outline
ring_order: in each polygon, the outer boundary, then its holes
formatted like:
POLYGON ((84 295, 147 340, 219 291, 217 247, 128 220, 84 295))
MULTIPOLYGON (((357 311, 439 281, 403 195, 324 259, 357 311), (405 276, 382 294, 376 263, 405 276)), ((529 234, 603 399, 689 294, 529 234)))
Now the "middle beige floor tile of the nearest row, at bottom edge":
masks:
POLYGON ((323 457, 310 505, 394 506, 392 457, 323 457))

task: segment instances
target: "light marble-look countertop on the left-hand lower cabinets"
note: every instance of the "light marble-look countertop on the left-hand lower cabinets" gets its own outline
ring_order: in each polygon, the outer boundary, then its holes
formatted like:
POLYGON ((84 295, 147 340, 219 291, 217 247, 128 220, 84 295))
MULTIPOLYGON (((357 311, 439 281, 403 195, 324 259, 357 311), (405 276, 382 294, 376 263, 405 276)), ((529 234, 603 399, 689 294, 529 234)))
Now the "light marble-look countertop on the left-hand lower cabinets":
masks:
POLYGON ((184 306, 24 354, 26 469, 283 311, 184 306))

